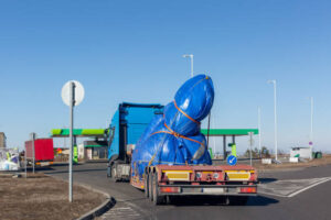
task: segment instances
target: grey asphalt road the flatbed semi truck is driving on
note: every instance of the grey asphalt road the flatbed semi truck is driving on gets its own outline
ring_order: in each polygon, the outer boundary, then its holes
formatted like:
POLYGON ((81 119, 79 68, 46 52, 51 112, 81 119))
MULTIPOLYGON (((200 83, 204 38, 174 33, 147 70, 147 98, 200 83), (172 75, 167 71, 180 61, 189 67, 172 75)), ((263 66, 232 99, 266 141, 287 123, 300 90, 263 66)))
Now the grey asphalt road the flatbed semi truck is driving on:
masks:
MULTIPOLYGON (((67 178, 67 166, 44 173, 67 178)), ((331 165, 288 172, 260 173, 259 195, 246 206, 225 206, 217 197, 182 197, 153 206, 128 183, 111 183, 105 163, 74 166, 74 183, 109 193, 116 205, 102 219, 331 219, 331 165)))

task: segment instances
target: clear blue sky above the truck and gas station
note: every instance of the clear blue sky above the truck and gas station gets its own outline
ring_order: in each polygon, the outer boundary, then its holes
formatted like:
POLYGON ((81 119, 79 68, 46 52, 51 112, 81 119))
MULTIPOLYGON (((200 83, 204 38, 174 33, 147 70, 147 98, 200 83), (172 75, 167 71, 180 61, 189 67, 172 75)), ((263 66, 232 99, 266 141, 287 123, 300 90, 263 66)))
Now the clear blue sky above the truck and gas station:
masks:
POLYGON ((106 128, 121 101, 167 103, 190 77, 182 55, 193 53, 194 72, 214 80, 213 128, 256 128, 260 106, 273 147, 266 81, 277 79, 279 147, 307 145, 312 96, 314 144, 329 150, 330 11, 327 0, 3 0, 0 131, 22 147, 32 131, 67 125, 60 95, 70 79, 86 89, 77 128, 106 128))

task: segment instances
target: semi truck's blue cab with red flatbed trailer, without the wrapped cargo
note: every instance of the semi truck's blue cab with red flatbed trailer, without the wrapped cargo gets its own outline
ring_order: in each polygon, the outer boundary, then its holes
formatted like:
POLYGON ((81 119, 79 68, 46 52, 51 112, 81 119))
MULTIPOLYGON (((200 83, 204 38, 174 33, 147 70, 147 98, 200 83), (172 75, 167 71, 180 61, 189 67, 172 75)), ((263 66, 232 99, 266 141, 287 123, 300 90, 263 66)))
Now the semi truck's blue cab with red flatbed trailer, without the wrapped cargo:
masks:
POLYGON ((143 178, 134 175, 131 156, 140 135, 156 114, 162 114, 161 105, 120 103, 108 131, 107 176, 113 182, 127 180, 145 190, 154 205, 173 196, 213 195, 244 205, 248 196, 257 195, 257 170, 249 165, 149 165, 143 178))

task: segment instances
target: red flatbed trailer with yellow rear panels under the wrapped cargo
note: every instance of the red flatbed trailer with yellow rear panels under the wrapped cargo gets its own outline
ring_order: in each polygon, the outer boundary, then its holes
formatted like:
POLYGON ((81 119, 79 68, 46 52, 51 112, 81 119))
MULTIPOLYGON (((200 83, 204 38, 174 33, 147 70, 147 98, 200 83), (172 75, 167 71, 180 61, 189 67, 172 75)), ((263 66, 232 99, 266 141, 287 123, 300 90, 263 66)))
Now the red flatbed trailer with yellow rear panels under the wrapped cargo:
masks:
POLYGON ((224 196, 246 204, 257 195, 257 172, 248 165, 156 165, 146 168, 143 177, 131 176, 130 184, 145 190, 154 205, 168 196, 224 196))

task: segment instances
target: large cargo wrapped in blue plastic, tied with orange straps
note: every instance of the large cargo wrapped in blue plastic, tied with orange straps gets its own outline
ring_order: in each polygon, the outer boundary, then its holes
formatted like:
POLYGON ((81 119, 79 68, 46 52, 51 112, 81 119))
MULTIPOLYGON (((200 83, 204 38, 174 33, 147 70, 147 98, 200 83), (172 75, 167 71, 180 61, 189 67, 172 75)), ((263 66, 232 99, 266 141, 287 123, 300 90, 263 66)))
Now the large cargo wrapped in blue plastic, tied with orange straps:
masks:
POLYGON ((214 101, 213 81, 197 75, 185 81, 156 116, 136 144, 132 175, 142 177, 148 165, 212 164, 200 122, 210 113, 214 101))

